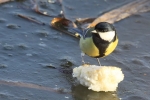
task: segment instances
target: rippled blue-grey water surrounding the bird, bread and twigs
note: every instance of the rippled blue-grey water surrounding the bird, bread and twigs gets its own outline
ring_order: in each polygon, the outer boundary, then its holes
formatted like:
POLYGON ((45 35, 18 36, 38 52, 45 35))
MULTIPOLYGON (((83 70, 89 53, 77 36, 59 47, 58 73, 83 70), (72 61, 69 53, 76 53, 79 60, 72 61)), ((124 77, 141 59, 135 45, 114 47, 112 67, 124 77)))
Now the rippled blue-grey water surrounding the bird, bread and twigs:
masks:
MULTIPOLYGON (((65 17, 75 20, 97 17, 132 0, 65 0, 62 6, 41 1, 37 0, 41 10, 57 16, 63 8, 65 17)), ((119 45, 101 63, 122 68, 125 79, 117 92, 105 93, 77 85, 70 74, 57 70, 66 60, 72 68, 81 65, 78 39, 52 29, 53 17, 37 14, 31 7, 25 0, 0 5, 0 100, 150 100, 150 12, 114 24, 119 45)), ((86 61, 97 64, 87 56, 86 61)))

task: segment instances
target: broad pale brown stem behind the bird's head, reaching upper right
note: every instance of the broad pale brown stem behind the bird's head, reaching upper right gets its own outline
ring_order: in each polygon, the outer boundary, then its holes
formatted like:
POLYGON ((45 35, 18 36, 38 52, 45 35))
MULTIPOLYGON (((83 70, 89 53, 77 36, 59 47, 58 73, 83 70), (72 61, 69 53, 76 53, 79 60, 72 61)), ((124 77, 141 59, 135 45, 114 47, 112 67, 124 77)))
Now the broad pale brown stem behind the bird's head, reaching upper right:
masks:
POLYGON ((112 11, 106 12, 105 14, 98 17, 88 27, 93 27, 98 22, 104 21, 107 21, 109 23, 115 23, 131 15, 147 11, 150 11, 150 0, 136 0, 120 8, 116 8, 112 11))

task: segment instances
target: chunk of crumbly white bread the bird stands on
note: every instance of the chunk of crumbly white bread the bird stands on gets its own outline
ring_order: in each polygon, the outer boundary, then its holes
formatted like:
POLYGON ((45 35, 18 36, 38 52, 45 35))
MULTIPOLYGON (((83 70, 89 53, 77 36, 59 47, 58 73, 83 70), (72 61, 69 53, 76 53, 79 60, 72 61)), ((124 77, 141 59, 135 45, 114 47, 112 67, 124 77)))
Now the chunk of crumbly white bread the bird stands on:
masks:
POLYGON ((73 77, 93 91, 116 91, 124 79, 121 69, 114 66, 82 65, 73 69, 73 77))

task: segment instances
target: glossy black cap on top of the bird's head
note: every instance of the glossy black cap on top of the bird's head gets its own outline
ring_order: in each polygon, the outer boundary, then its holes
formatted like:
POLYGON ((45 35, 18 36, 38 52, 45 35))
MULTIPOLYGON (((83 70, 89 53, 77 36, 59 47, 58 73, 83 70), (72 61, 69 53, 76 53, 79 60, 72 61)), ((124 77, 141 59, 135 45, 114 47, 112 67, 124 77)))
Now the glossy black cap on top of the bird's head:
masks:
POLYGON ((115 31, 115 28, 112 24, 108 22, 100 22, 95 26, 95 30, 97 32, 109 32, 109 31, 115 31))

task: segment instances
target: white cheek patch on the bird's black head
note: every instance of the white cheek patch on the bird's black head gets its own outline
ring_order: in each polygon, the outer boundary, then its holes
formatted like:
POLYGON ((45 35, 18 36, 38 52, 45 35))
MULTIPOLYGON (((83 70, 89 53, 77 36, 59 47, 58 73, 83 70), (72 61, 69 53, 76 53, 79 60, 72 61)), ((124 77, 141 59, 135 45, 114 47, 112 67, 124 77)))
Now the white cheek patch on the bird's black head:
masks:
POLYGON ((99 32, 98 34, 103 40, 110 42, 115 36, 115 31, 99 32))

